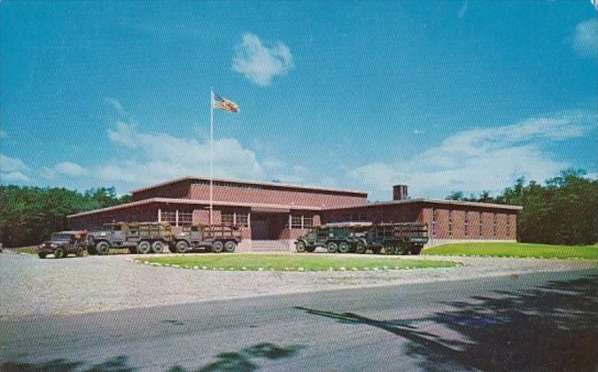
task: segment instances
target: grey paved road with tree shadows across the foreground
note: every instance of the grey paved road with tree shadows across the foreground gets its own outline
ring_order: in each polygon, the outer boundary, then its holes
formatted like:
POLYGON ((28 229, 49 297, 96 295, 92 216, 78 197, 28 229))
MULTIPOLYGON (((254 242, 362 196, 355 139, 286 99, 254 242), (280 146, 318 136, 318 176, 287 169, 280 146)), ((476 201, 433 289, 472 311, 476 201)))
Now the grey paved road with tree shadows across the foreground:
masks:
POLYGON ((594 371, 597 333, 586 270, 4 321, 0 370, 594 371))

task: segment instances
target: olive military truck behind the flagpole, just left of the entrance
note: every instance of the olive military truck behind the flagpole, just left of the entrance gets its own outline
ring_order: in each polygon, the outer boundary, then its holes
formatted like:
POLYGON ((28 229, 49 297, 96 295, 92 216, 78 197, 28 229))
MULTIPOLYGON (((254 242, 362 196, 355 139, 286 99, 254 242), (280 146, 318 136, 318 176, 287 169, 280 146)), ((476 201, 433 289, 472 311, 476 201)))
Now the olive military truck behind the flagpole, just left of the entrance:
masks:
POLYGON ((170 246, 171 252, 186 253, 194 251, 205 252, 235 252, 241 241, 241 230, 229 226, 193 226, 190 230, 175 235, 170 246))

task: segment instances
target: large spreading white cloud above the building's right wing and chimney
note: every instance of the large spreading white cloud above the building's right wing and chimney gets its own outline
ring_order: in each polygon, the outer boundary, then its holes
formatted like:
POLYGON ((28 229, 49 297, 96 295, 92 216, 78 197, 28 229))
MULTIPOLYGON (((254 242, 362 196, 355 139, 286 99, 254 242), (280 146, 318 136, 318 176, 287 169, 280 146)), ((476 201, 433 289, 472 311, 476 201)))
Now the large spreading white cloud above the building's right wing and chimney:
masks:
POLYGON ((393 184, 408 184, 415 196, 443 198, 450 191, 497 192, 517 177, 544 181, 567 164, 551 159, 547 143, 584 136, 595 115, 565 113, 498 128, 478 128, 447 137, 439 147, 400 163, 370 163, 350 176, 389 194, 393 184))

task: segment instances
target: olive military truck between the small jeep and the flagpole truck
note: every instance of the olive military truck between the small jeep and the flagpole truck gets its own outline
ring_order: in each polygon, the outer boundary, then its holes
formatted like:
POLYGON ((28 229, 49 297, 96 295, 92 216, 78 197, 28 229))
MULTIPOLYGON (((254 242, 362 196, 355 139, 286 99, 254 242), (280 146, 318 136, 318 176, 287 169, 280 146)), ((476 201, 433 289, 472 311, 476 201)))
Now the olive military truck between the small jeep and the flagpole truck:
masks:
POLYGON ((89 254, 105 255, 110 248, 128 248, 130 253, 161 253, 173 241, 170 225, 159 222, 106 223, 92 229, 87 240, 89 254))

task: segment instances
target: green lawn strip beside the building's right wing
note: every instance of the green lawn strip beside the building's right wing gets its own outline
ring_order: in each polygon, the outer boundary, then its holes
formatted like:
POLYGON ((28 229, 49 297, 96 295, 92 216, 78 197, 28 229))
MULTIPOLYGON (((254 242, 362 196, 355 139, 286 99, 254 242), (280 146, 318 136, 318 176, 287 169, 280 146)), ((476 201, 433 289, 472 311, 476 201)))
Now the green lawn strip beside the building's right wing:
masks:
POLYGON ((444 256, 535 257, 542 259, 598 260, 596 245, 548 245, 526 243, 459 243, 423 250, 422 254, 444 256))

